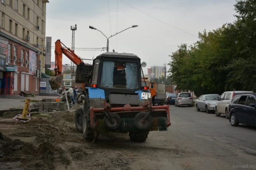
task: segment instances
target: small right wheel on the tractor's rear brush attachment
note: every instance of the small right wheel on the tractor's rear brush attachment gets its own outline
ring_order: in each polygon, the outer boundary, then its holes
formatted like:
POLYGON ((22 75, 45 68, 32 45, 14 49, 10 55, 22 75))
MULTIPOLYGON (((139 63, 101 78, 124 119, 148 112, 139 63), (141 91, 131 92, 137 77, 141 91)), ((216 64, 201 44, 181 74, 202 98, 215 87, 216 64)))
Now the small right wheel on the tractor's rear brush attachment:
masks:
POLYGON ((149 130, 150 127, 153 124, 153 118, 152 116, 148 116, 147 119, 145 119, 144 122, 142 122, 143 118, 147 115, 147 112, 142 111, 140 113, 138 113, 135 118, 134 118, 134 123, 135 126, 139 129, 139 130, 149 130))

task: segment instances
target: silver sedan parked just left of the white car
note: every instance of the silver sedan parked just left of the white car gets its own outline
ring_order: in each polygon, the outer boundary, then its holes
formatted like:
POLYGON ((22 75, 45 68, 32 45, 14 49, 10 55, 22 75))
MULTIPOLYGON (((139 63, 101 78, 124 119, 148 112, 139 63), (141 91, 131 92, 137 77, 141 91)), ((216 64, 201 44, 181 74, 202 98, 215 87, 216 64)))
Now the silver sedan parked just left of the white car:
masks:
POLYGON ((200 111, 200 109, 205 110, 206 113, 210 113, 210 111, 215 110, 215 105, 217 103, 217 98, 220 97, 219 94, 205 94, 200 96, 195 101, 196 111, 200 111))

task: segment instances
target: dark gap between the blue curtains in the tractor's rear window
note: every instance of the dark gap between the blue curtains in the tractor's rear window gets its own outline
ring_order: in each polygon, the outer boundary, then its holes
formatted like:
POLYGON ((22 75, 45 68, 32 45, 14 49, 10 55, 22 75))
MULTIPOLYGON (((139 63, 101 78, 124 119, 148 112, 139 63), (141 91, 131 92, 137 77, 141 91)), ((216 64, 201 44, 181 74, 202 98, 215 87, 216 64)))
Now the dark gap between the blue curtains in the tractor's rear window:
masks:
POLYGON ((114 85, 126 86, 126 67, 123 63, 116 61, 113 73, 114 85))

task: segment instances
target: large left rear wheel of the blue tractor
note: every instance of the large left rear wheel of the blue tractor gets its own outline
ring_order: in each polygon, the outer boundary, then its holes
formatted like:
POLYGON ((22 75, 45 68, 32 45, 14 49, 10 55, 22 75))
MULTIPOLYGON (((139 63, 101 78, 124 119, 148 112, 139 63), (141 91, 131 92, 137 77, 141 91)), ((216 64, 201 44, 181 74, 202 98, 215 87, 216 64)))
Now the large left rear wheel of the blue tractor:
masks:
MULTIPOLYGON (((84 113, 83 113, 83 138, 87 141, 94 140, 94 130, 91 127, 90 121, 90 105, 89 105, 89 97, 88 94, 85 97, 85 105, 84 105, 84 113)), ((98 135, 98 134, 97 134, 98 135)), ((97 137, 96 137, 97 139, 97 137)))

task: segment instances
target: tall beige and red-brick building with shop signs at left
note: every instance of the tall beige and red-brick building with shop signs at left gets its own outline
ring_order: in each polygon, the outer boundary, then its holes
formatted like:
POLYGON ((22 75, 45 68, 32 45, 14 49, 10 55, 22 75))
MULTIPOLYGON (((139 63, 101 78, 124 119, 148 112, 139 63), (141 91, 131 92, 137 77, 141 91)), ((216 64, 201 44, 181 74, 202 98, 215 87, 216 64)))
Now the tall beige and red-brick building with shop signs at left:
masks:
POLYGON ((0 94, 39 94, 49 1, 0 1, 0 94))

